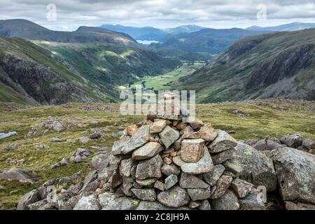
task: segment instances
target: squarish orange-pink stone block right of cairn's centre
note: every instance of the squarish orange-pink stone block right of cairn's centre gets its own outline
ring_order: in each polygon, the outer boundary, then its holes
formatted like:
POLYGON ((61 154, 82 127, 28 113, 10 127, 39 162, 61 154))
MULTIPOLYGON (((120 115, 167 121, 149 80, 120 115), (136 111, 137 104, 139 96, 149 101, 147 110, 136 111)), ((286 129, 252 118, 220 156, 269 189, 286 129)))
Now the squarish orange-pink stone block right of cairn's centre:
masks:
POLYGON ((181 159, 184 162, 198 162, 204 155, 204 140, 184 139, 181 142, 181 159))

